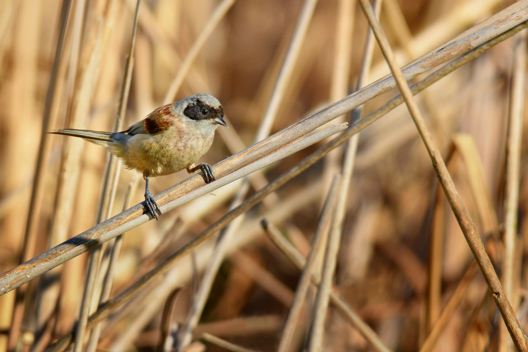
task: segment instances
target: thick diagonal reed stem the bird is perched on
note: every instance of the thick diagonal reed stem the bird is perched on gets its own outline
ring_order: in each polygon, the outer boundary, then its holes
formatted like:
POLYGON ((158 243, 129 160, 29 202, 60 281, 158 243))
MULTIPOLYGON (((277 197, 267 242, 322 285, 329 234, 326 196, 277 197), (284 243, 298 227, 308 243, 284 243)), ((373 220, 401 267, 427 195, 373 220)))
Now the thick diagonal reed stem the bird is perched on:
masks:
MULTIPOLYGON (((456 38, 456 43, 451 43, 453 41, 450 42, 451 49, 453 49, 453 51, 433 51, 425 57, 415 60, 413 63, 406 66, 404 70, 406 70, 408 73, 408 77, 416 77, 416 75, 427 71, 430 68, 429 66, 437 65, 441 62, 450 60, 451 58, 454 58, 457 53, 460 53, 460 51, 466 51, 468 49, 467 44, 469 42, 475 45, 484 43, 483 45, 478 46, 470 52, 460 56, 460 58, 446 65, 444 68, 439 69, 435 73, 429 75, 423 81, 414 84, 411 87, 413 94, 417 94, 426 87, 429 87, 429 85, 438 81, 440 78, 444 77, 450 72, 456 70, 461 65, 473 60, 478 55, 482 54, 494 45, 508 39, 513 34, 525 28, 528 25, 528 23, 524 22, 526 21, 526 17, 528 17, 528 8, 526 8, 526 11, 520 16, 515 17, 514 20, 504 21, 505 14, 517 13, 518 7, 525 3, 528 3, 528 0, 525 0, 521 3, 517 2, 498 14, 489 17, 488 20, 484 21, 483 23, 470 28, 468 31, 459 35, 456 38), (502 26, 497 24, 502 23, 499 21, 500 18, 503 18, 504 21, 502 26), (494 20, 494 23, 497 24, 497 26, 495 26, 495 24, 491 25, 489 23, 491 20, 494 20), (500 28, 500 30, 497 30, 497 28, 500 28), (495 31, 502 34, 494 37, 493 35, 496 35, 495 31), (479 33, 481 35, 476 35, 475 33, 479 33), (489 40, 489 42, 486 42, 485 40, 489 40), (466 45, 462 45, 463 43, 466 45), (457 48, 453 46, 456 46, 457 48), (422 64, 421 66, 420 63, 422 64)), ((507 15, 505 17, 510 18, 507 15)), ((230 173, 237 173, 242 168, 242 166, 248 165, 263 155, 269 154, 271 150, 274 150, 273 148, 279 147, 277 145, 278 141, 281 141, 281 145, 284 145, 284 143, 287 141, 298 138, 299 134, 305 131, 311 131, 318 126, 322 126, 324 123, 326 123, 326 121, 330 121, 337 116, 343 115, 343 113, 346 111, 351 111, 366 101, 384 93, 385 91, 390 90, 392 84, 391 82, 391 76, 378 80, 361 89, 360 91, 351 94, 347 98, 332 104, 332 106, 315 113, 309 118, 306 118, 303 121, 300 121, 280 132, 277 132, 275 135, 267 138, 259 144, 253 145, 241 151, 240 153, 221 161, 220 163, 214 165, 213 170, 215 175, 222 178, 234 179, 234 176, 230 175, 230 173), (228 177, 227 175, 230 176, 228 177)), ((343 135, 337 137, 331 142, 328 142, 326 146, 320 148, 314 154, 312 154, 312 157, 318 160, 318 158, 326 155, 328 150, 341 145, 347 138, 350 138, 357 132, 369 126, 374 121, 378 120, 387 112, 401 104, 402 101, 403 99, 401 97, 392 99, 383 107, 371 113, 371 115, 365 117, 363 120, 348 128, 343 135)), ((190 194, 195 194, 197 187, 201 187, 200 189, 202 190, 202 194, 206 194, 211 192, 213 189, 216 189, 214 188, 215 185, 218 185, 218 187, 221 186, 220 182, 204 185, 203 178, 201 176, 191 176, 183 182, 158 194, 156 200, 158 204, 163 204, 162 207, 164 207, 165 204, 175 202, 175 199, 178 199, 178 197, 186 198, 190 194)), ((175 203, 172 203, 172 206, 176 207, 174 204, 175 203)), ((164 209, 168 211, 174 207, 167 206, 164 207, 164 209)), ((144 206, 142 204, 138 204, 126 212, 122 212, 121 214, 118 214, 109 220, 92 227, 92 229, 89 229, 64 243, 55 246, 55 248, 37 255, 35 258, 4 272, 0 275, 0 295, 11 291, 12 289, 32 280, 36 276, 41 275, 42 273, 65 261, 68 261, 75 256, 86 252, 98 243, 108 241, 110 238, 118 235, 119 233, 128 231, 129 229, 133 229, 134 227, 145 223, 150 219, 147 217, 148 215, 143 214, 144 212, 144 206)))

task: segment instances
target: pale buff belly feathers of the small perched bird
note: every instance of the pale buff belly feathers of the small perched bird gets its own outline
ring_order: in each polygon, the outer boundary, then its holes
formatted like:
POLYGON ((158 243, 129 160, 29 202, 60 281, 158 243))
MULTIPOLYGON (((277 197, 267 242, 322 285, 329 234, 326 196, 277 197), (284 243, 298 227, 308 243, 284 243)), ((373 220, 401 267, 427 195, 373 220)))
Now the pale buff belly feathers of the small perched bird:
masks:
POLYGON ((209 138, 174 135, 135 135, 118 155, 128 169, 150 177, 169 175, 193 164, 206 153, 213 142, 209 138))

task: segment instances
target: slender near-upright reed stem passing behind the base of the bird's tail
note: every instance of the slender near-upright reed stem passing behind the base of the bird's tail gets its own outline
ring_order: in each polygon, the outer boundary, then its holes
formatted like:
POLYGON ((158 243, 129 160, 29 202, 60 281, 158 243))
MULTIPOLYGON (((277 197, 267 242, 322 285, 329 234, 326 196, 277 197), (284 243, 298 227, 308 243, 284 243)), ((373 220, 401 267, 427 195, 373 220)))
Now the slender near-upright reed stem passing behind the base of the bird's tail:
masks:
MULTIPOLYGON (((125 111, 126 106, 128 102, 128 93, 130 92, 130 82, 131 82, 131 75, 132 75, 132 69, 134 67, 134 45, 136 41, 136 30, 137 30, 137 19, 139 14, 139 5, 141 4, 141 0, 137 0, 136 5, 136 12, 134 16, 134 22, 132 27, 132 35, 130 39, 130 49, 128 52, 128 57, 125 64, 125 73, 124 77, 121 83, 121 92, 120 92, 120 99, 119 99, 119 108, 117 111, 116 120, 114 123, 114 132, 119 131, 124 124, 125 120, 125 111)), ((105 180, 103 180, 103 188, 101 192, 101 199, 99 203, 99 209, 98 209, 98 218, 97 222, 100 223, 103 221, 103 216, 108 217, 107 215, 111 212, 112 204, 114 203, 114 198, 116 196, 116 189, 117 189, 117 180, 119 178, 119 169, 117 165, 117 158, 114 156, 111 156, 110 153, 108 153, 108 159, 107 159, 107 165, 106 165, 106 173, 105 173, 105 180), (115 173, 113 176, 113 182, 108 189, 109 180, 111 177, 110 170, 114 169, 115 173), (107 212, 103 210, 104 204, 106 199, 108 199, 107 204, 107 212)), ((90 314, 90 308, 92 303, 92 297, 94 294, 94 291, 96 291, 96 281, 97 281, 97 272, 99 268, 99 264, 101 262, 101 253, 102 253, 102 244, 98 245, 96 248, 92 249, 90 253, 90 261, 88 264, 88 273, 86 275, 86 283, 84 284, 84 292, 82 296, 81 301, 81 312, 79 314, 79 320, 77 321, 77 332, 75 335, 75 344, 73 346, 73 352, 81 352, 83 344, 84 344, 84 333, 86 330, 86 324, 88 320, 88 316, 90 314)), ((96 292, 97 296, 99 296, 100 292, 96 292)), ((96 329, 96 332, 99 332, 99 329, 96 329)), ((97 341, 99 340, 99 335, 94 334, 93 336, 90 336, 90 339, 88 341, 87 346, 87 352, 94 352, 97 349, 97 341)))

